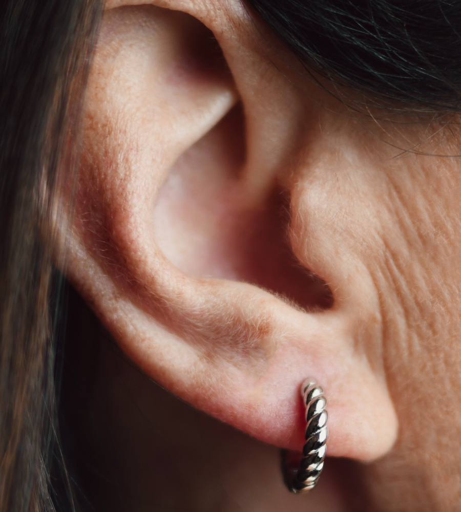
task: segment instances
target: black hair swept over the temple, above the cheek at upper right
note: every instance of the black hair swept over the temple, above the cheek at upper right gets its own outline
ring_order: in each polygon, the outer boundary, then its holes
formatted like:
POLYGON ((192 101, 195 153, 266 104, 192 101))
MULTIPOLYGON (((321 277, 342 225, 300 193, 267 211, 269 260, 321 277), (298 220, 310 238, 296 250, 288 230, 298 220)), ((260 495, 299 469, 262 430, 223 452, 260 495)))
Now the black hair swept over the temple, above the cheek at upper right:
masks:
POLYGON ((248 0, 324 76, 403 109, 461 110, 458 0, 248 0))

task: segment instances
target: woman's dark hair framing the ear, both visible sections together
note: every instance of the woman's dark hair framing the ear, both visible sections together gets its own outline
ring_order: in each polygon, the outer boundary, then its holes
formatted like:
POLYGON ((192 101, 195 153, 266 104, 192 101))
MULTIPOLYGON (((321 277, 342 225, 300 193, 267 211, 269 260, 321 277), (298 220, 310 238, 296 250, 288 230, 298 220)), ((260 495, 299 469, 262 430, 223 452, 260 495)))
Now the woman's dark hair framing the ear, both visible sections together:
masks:
MULTIPOLYGON (((306 66, 373 98, 461 110, 461 3, 248 2, 306 66)), ((73 509, 56 419, 53 218, 55 198, 72 197, 101 4, 4 0, 0 14, 0 509, 8 512, 51 511, 58 492, 59 506, 73 509)))

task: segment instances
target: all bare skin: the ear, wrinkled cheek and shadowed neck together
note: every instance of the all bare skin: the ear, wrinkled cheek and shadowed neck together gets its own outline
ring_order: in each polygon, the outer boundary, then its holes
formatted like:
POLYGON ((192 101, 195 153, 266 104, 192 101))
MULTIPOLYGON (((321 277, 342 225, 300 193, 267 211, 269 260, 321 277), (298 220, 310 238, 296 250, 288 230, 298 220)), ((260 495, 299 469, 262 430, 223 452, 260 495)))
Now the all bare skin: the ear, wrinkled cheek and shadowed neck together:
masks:
POLYGON ((63 247, 121 350, 93 329, 80 442, 122 496, 89 485, 98 509, 456 510, 457 124, 321 87, 233 0, 125 4, 103 18, 63 247), (308 376, 348 461, 299 497, 275 447, 302 447, 308 376))

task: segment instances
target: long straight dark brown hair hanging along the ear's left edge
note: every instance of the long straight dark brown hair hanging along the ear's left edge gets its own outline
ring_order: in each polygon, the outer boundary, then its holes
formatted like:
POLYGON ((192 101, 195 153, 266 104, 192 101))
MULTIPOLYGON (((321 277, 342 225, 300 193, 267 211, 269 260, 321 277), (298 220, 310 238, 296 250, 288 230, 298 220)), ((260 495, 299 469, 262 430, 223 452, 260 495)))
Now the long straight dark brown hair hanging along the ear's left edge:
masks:
MULTIPOLYGON (((53 510, 55 198, 75 181, 99 0, 4 0, 0 17, 0 510, 53 510)), ((58 464, 64 468, 64 462, 58 464)), ((65 471, 65 470, 64 470, 65 471)), ((62 493, 61 493, 62 494, 62 493)), ((71 491, 66 493, 71 497, 71 491)))

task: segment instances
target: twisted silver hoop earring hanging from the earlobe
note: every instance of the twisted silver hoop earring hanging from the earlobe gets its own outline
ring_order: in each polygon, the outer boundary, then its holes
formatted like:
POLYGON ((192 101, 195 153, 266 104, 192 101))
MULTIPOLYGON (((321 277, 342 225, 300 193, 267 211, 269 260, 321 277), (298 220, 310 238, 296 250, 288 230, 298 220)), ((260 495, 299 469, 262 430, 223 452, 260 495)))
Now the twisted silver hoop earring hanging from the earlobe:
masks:
POLYGON ((301 386, 306 408, 306 432, 303 452, 282 451, 282 471, 285 484, 292 493, 306 493, 313 489, 323 470, 328 438, 328 413, 323 389, 313 379, 301 386))

